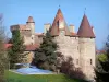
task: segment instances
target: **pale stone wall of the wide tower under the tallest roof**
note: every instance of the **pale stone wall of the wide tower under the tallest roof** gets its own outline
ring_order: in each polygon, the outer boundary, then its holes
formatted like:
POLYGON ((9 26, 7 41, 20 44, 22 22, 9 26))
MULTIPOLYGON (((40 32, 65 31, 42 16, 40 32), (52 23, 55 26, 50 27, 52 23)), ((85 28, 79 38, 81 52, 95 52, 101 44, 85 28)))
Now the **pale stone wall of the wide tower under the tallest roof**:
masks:
POLYGON ((76 68, 80 67, 80 52, 78 52, 78 37, 57 36, 55 37, 59 45, 58 51, 62 52, 65 57, 72 57, 73 63, 76 68))

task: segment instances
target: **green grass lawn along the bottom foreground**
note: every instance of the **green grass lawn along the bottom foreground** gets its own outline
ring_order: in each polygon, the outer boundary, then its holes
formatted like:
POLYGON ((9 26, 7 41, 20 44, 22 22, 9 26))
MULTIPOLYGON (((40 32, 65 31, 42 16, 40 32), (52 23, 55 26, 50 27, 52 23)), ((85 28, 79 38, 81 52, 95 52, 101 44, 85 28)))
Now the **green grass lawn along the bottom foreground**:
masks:
POLYGON ((23 75, 5 71, 8 82, 85 82, 83 80, 70 79, 64 74, 34 74, 23 75))

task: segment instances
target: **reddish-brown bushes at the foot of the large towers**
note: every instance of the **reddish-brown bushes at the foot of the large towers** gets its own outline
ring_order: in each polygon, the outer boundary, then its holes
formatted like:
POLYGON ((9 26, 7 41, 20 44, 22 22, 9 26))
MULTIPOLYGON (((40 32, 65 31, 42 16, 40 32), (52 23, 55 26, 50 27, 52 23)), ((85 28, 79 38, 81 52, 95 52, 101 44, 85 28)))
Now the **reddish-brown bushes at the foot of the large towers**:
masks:
POLYGON ((72 57, 64 57, 61 52, 58 52, 57 68, 60 72, 77 79, 85 79, 85 75, 80 68, 75 68, 72 57))

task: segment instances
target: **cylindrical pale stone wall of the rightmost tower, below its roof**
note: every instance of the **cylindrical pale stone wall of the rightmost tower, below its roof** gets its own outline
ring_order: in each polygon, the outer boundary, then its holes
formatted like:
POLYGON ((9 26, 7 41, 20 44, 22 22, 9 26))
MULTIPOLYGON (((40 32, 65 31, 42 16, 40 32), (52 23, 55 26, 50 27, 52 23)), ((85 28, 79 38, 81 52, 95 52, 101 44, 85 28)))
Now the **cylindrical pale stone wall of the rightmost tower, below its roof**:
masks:
POLYGON ((94 79, 95 38, 80 38, 80 66, 87 79, 94 79))

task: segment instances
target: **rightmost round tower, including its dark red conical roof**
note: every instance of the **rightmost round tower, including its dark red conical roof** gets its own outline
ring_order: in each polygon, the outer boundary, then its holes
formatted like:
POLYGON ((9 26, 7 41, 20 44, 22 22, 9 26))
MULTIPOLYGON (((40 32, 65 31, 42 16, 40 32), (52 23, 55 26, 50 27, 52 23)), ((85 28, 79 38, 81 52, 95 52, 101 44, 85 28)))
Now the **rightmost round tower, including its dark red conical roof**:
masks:
POLYGON ((94 80, 95 67, 95 35, 84 14, 77 32, 80 43, 80 66, 87 80, 94 80))

